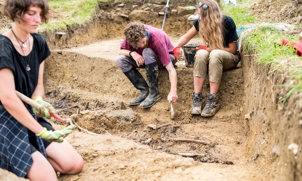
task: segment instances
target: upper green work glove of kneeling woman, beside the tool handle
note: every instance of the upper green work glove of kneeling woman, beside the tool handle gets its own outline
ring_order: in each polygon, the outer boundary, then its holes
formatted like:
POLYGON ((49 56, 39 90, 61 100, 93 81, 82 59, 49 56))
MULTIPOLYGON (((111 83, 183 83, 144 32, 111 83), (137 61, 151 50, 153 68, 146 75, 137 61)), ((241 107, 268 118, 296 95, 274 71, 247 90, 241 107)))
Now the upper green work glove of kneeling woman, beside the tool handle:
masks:
POLYGON ((51 104, 44 101, 40 96, 34 97, 33 100, 42 106, 40 109, 32 107, 32 111, 36 114, 37 117, 45 117, 46 119, 54 120, 54 118, 51 117, 49 114, 49 113, 54 113, 55 111, 53 106, 51 106, 51 104))

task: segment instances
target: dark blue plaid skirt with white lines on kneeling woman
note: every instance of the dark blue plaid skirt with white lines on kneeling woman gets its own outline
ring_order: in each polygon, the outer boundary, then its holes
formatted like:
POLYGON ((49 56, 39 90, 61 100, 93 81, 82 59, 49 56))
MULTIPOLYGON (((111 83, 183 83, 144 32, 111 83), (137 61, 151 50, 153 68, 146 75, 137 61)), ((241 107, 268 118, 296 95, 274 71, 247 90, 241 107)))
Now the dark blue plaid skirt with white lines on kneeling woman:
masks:
MULTIPOLYGON (((32 109, 29 107, 27 110, 38 121, 32 109)), ((39 121, 50 124, 44 118, 39 118, 39 121)), ((33 163, 30 144, 46 158, 43 139, 10 115, 0 102, 0 168, 25 177, 33 163)))

